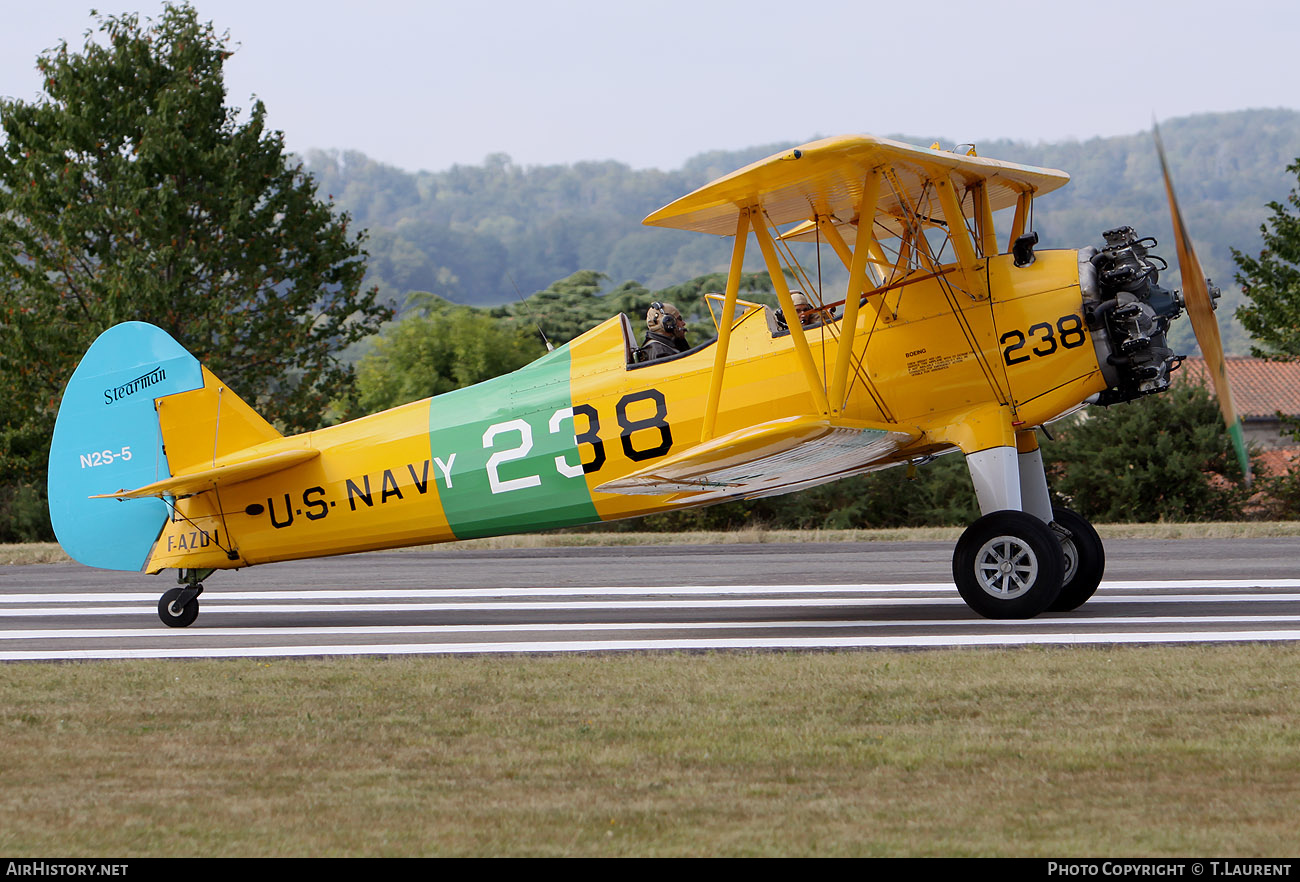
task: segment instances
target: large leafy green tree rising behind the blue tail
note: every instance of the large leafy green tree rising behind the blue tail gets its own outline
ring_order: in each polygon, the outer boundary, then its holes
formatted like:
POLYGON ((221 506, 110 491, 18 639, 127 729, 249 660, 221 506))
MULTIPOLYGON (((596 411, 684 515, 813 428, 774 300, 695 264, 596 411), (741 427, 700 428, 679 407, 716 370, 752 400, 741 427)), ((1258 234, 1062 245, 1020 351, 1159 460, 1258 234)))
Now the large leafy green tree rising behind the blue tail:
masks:
POLYGON ((268 419, 320 424, 335 354, 389 310, 361 291, 364 233, 316 198, 254 101, 225 104, 229 36, 194 8, 96 16, 82 51, 0 100, 0 487, 44 484, 62 388, 86 346, 153 323, 268 419))

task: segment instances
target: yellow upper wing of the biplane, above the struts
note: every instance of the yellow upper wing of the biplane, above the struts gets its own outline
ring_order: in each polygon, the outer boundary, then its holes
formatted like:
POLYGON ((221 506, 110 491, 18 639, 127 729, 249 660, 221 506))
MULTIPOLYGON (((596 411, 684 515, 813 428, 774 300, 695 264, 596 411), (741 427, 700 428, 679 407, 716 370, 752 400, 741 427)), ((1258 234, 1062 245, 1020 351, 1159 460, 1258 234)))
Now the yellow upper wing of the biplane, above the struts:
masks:
MULTIPOLYGON (((1041 195, 1065 186, 1065 172, 1018 165, 936 148, 913 147, 870 135, 844 135, 775 154, 718 178, 672 202, 645 219, 651 226, 734 235, 738 212, 762 206, 774 225, 833 216, 840 222, 857 221, 866 174, 888 169, 888 186, 880 187, 875 220, 893 228, 890 219, 906 217, 909 206, 920 200, 928 182, 948 174, 965 189, 984 182, 991 211, 1014 206, 1023 193, 1041 195)), ((866 215, 863 208, 861 212, 866 215)))

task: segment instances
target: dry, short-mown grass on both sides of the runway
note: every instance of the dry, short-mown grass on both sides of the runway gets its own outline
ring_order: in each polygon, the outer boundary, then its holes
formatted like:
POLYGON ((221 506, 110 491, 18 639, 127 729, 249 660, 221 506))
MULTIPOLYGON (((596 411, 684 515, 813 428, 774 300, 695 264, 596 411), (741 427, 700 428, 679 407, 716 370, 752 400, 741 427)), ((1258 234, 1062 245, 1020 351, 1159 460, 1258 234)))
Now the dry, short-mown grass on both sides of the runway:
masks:
POLYGON ((1297 692, 1288 644, 6 663, 0 853, 1294 856, 1297 692))

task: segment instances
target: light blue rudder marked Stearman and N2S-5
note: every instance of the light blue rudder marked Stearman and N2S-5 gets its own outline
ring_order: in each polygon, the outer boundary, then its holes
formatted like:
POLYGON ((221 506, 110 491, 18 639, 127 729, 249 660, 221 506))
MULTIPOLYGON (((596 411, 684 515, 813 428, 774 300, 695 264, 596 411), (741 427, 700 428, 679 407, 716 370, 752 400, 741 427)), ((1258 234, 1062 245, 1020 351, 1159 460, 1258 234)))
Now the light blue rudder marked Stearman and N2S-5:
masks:
POLYGON ((203 368, 166 332, 109 328, 68 381, 49 448, 49 519, 74 559, 144 568, 168 520, 162 500, 91 500, 170 477, 155 398, 203 386, 203 368))

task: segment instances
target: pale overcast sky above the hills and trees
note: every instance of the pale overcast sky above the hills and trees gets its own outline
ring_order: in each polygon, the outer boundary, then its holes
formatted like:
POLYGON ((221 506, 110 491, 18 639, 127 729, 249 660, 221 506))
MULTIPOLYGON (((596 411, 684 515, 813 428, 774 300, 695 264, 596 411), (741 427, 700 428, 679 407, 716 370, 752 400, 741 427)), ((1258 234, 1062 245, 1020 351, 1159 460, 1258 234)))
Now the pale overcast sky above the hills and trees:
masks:
MULTIPOLYGON (((0 95, 83 44, 90 9, 5 0, 0 95)), ((833 134, 1087 139, 1206 111, 1300 108, 1295 0, 195 0, 229 31, 228 101, 290 150, 441 170, 508 154, 673 169, 833 134)), ((946 146, 946 144, 945 144, 946 146)), ((1297 144, 1300 148, 1300 144, 1297 144)))

